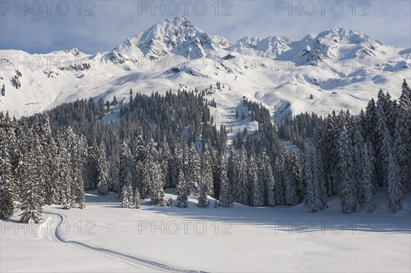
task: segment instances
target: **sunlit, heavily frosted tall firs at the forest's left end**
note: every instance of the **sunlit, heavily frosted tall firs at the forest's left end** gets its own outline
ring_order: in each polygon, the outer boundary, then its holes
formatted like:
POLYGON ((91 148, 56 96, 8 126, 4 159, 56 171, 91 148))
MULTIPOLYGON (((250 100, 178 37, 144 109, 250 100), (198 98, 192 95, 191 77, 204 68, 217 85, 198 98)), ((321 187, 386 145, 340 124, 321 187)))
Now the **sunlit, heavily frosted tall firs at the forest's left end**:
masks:
POLYGON ((44 205, 83 209, 86 147, 71 129, 53 138, 47 115, 0 112, 0 218, 11 218, 15 204, 26 223, 39 222, 44 205))

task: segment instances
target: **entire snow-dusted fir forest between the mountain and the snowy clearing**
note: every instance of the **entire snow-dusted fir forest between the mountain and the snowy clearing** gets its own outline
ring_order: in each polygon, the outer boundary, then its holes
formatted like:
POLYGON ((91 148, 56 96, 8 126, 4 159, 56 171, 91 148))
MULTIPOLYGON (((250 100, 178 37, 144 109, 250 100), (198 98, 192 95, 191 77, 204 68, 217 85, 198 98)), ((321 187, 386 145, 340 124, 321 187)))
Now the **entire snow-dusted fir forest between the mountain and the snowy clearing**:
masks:
MULTIPOLYGON (((123 208, 152 205, 201 208, 305 204, 321 211, 338 196, 342 213, 366 207, 386 192, 392 213, 411 190, 411 90, 401 96, 379 90, 358 115, 326 118, 299 114, 275 127, 261 103, 243 99, 256 131, 238 132, 227 143, 215 107, 204 91, 160 95, 130 90, 119 122, 101 118, 119 102, 79 99, 18 120, 0 114, 0 218, 19 211, 21 222, 38 223, 45 205, 84 209, 85 192, 118 193, 123 208), (282 140, 302 152, 288 152, 282 140), (164 197, 175 188, 176 200, 164 197), (215 199, 210 204, 210 197, 215 199)), ((336 109, 337 110, 337 109, 336 109)))

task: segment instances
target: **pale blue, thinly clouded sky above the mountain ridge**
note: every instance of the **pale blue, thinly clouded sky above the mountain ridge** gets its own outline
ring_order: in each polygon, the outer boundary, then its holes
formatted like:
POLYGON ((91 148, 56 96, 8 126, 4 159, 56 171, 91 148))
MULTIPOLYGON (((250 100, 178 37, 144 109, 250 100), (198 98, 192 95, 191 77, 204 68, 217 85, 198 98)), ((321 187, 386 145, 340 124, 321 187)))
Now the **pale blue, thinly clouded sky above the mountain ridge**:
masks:
POLYGON ((78 2, 0 0, 0 49, 108 51, 177 13, 231 42, 244 36, 300 40, 338 26, 362 31, 385 44, 411 47, 410 0, 82 1, 81 8, 78 2))

